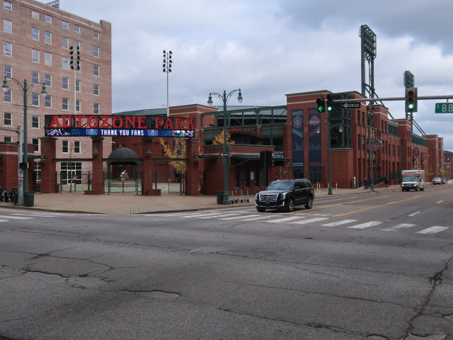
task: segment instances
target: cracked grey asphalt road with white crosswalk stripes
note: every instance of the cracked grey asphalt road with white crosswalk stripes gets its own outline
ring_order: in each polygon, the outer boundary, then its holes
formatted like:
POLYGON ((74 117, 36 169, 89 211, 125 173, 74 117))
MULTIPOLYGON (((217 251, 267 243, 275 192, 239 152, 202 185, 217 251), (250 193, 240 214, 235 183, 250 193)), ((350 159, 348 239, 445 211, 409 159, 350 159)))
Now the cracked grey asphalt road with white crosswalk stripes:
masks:
POLYGON ((0 210, 0 339, 453 339, 453 185, 159 215, 0 210))

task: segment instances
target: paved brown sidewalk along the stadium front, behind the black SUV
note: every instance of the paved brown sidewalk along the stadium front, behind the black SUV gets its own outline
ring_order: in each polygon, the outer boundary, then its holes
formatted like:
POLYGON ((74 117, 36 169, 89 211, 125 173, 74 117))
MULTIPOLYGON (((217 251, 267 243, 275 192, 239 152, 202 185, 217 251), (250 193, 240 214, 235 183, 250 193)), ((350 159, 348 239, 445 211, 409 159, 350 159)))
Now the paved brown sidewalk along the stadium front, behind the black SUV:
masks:
MULTIPOLYGON (((379 188, 379 191, 391 191, 392 188, 379 188)), ((343 196, 358 193, 373 193, 370 190, 357 189, 333 189, 333 196, 343 196)), ((328 189, 315 191, 316 199, 328 196, 328 189)), ((16 206, 13 203, 0 203, 0 208, 17 208, 27 210, 40 210, 48 212, 86 212, 93 214, 108 215, 131 215, 158 212, 194 211, 212 208, 236 208, 241 206, 253 206, 255 196, 249 196, 250 203, 237 203, 231 205, 217 204, 217 196, 134 196, 134 195, 84 195, 79 193, 35 193, 33 207, 16 206)))

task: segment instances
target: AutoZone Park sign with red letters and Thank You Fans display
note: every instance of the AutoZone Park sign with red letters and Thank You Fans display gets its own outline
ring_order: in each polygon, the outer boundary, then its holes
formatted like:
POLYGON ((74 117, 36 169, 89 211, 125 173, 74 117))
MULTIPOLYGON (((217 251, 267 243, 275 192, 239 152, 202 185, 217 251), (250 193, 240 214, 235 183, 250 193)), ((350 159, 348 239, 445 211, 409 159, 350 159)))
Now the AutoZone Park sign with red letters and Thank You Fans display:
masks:
POLYGON ((195 137, 195 118, 151 115, 45 115, 45 135, 195 137))

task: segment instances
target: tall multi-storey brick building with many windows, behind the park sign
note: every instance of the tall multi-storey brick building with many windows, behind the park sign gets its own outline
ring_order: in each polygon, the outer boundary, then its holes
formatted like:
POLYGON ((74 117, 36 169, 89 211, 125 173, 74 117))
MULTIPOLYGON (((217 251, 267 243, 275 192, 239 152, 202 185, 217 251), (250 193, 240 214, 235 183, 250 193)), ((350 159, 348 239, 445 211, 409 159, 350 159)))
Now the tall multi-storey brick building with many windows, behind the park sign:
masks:
MULTIPOLYGON (((110 23, 89 21, 58 7, 59 1, 47 5, 34 0, 2 0, 1 69, 5 77, 16 79, 22 86, 24 79, 28 86, 33 84, 27 98, 28 145, 33 145, 38 157, 40 137, 44 136, 44 115, 110 115, 112 112, 110 23), (77 72, 71 69, 71 46, 79 47, 77 72), (42 85, 38 83, 45 83, 47 96, 40 96, 42 85)), ((17 140, 15 132, 5 129, 23 126, 23 92, 11 79, 8 86, 0 100, 3 148, 17 140)), ((106 156, 111 148, 107 146, 104 150, 106 156)), ((69 167, 80 171, 91 166, 77 161, 91 157, 88 137, 60 139, 56 151, 57 158, 69 161, 57 164, 57 169, 64 170, 64 176, 71 176, 69 167)), ((40 163, 34 164, 39 175, 40 163)))

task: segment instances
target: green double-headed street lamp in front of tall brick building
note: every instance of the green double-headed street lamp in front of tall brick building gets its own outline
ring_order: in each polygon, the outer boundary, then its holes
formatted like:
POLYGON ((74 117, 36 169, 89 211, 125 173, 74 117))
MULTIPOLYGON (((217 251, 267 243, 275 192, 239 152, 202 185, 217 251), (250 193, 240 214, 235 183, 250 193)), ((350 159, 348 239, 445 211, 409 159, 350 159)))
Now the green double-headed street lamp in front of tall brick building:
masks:
MULTIPOLYGON (((24 79, 23 84, 21 84, 21 82, 18 81, 17 79, 10 78, 10 77, 4 77, 3 86, 1 86, 3 91, 7 91, 9 89, 8 81, 6 79, 11 79, 11 80, 15 81, 16 84, 18 84, 19 89, 21 89, 22 94, 23 94, 23 145, 22 146, 23 146, 23 163, 25 164, 25 169, 23 169, 23 187, 21 187, 19 185, 20 182, 18 183, 18 191, 19 192, 21 190, 23 191, 22 197, 24 198, 23 202, 18 201, 18 204, 23 204, 23 203, 25 203, 25 200, 26 200, 25 198, 28 198, 28 143, 27 143, 28 142, 28 136, 27 136, 28 103, 27 103, 27 95, 28 95, 28 91, 30 89, 32 89, 33 85, 35 85, 35 84, 31 84, 30 86, 28 86, 27 79, 24 79)), ((47 91, 45 90, 45 83, 36 83, 36 84, 42 84, 41 95, 45 96, 47 94, 47 91)), ((19 147, 21 147, 21 146, 19 146, 19 147)), ((19 196, 19 193, 18 193, 18 196, 19 196)), ((27 203, 25 203, 25 205, 27 205, 27 203)))

